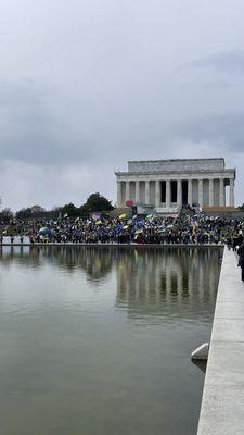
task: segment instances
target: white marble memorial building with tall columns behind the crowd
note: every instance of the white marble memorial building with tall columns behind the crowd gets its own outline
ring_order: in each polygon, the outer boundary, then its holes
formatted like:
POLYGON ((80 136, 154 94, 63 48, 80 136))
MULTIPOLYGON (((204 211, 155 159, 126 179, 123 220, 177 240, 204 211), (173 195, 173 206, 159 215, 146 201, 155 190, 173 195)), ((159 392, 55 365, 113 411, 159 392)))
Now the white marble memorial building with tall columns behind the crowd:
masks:
POLYGON ((235 169, 227 169, 222 158, 133 161, 128 172, 115 175, 117 207, 132 203, 140 212, 158 213, 174 213, 182 204, 234 207, 235 169))

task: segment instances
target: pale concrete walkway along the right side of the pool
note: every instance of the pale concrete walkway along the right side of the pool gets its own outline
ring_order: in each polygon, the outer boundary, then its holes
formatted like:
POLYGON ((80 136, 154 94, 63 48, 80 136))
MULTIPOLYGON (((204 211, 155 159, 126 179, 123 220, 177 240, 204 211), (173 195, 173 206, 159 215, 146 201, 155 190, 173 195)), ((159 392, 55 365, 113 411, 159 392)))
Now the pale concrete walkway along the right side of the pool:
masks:
POLYGON ((224 249, 197 435, 244 434, 244 283, 224 249))

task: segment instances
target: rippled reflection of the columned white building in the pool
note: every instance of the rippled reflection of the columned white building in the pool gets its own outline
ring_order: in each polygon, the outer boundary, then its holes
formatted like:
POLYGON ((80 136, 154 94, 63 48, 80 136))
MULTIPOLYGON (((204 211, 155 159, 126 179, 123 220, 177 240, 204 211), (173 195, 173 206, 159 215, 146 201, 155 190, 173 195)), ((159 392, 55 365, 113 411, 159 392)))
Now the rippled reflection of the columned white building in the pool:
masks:
POLYGON ((193 301, 198 315, 206 303, 214 307, 220 256, 213 248, 134 250, 117 263, 117 307, 127 309, 129 316, 167 310, 182 316, 193 301))

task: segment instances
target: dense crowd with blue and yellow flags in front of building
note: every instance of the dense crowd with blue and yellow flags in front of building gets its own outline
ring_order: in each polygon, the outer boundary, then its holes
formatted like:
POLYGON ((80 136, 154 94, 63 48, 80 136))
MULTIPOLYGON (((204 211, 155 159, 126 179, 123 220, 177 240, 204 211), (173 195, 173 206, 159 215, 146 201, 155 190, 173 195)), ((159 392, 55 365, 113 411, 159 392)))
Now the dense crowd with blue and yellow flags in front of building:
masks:
POLYGON ((23 220, 1 226, 0 243, 9 236, 14 243, 30 244, 227 244, 242 243, 244 223, 240 220, 205 216, 194 210, 159 217, 95 216, 92 219, 23 220))

